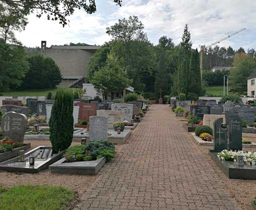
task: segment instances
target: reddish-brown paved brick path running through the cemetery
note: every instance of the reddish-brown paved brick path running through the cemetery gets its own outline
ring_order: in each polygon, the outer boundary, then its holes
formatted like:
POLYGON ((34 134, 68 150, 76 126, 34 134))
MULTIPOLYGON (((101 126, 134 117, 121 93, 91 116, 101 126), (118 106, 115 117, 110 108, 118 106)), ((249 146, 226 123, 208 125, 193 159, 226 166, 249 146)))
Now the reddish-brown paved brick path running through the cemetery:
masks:
POLYGON ((239 209, 167 105, 153 105, 75 209, 239 209))

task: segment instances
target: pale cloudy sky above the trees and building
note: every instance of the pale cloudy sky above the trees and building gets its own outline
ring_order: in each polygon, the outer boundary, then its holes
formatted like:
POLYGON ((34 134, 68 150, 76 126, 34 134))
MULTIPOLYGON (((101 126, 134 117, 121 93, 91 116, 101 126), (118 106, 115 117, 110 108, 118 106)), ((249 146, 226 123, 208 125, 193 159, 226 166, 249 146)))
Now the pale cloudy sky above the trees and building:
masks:
POLYGON ((40 46, 41 40, 46 40, 48 47, 69 42, 101 45, 111 39, 105 33, 106 27, 118 19, 136 15, 154 44, 162 35, 178 44, 187 23, 193 48, 209 45, 241 28, 246 29, 218 45, 256 48, 255 0, 122 0, 121 7, 113 0, 96 0, 96 5, 94 14, 76 10, 64 28, 46 16, 39 19, 36 14, 30 14, 26 29, 17 32, 17 38, 26 46, 40 46))

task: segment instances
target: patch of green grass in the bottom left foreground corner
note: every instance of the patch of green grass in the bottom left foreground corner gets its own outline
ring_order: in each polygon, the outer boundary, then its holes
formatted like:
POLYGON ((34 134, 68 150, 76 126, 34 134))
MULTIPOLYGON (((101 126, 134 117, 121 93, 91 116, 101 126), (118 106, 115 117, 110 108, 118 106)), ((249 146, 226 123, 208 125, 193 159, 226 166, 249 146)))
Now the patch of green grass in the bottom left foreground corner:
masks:
POLYGON ((65 187, 21 185, 4 190, 0 186, 3 210, 63 210, 73 199, 73 191, 65 187))

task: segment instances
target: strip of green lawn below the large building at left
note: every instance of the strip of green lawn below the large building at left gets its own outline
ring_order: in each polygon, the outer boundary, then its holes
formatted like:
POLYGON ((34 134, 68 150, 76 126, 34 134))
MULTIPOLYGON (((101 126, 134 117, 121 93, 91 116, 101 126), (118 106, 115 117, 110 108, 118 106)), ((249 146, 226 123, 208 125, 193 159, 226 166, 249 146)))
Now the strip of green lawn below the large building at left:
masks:
MULTIPOLYGON (((75 88, 72 88, 75 89, 75 88)), ((48 92, 52 92, 54 95, 57 91, 57 88, 52 89, 29 89, 23 91, 8 91, 8 92, 1 92, 4 96, 47 96, 48 92)))

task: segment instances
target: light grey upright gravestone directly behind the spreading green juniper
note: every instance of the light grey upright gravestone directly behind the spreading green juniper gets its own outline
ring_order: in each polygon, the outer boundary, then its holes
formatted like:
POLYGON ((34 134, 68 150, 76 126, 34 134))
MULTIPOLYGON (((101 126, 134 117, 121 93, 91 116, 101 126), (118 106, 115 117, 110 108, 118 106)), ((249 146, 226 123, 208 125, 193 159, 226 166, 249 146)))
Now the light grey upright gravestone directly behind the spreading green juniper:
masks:
POLYGON ((107 117, 90 116, 89 117, 89 139, 106 140, 107 139, 107 117))

